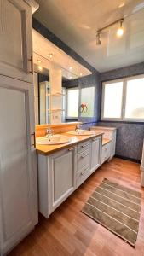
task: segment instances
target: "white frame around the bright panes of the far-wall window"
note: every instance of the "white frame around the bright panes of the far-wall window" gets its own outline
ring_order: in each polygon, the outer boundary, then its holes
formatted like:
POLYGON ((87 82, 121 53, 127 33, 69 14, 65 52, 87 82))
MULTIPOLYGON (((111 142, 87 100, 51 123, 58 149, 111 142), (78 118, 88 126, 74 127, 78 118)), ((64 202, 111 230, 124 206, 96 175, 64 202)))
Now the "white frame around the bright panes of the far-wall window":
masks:
POLYGON ((108 80, 105 82, 102 82, 102 95, 101 95, 101 121, 126 121, 126 122, 139 122, 143 123, 144 119, 130 119, 125 118, 125 107, 126 107, 126 91, 127 91, 127 82, 129 80, 135 80, 135 79, 144 79, 144 74, 141 75, 135 75, 130 76, 127 78, 122 79, 114 79, 114 80, 108 80), (105 85, 106 84, 113 84, 117 82, 123 82, 123 93, 122 93, 122 106, 121 106, 121 117, 120 118, 105 118, 104 117, 104 97, 105 97, 105 85))

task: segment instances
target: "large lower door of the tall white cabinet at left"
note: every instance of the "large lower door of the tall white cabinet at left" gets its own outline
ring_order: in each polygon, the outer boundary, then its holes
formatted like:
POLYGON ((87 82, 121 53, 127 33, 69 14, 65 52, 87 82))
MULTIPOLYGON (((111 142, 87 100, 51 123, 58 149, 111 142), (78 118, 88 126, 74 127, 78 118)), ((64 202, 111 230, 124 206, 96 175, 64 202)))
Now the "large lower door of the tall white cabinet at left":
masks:
POLYGON ((0 76, 0 255, 37 224, 33 86, 0 76))

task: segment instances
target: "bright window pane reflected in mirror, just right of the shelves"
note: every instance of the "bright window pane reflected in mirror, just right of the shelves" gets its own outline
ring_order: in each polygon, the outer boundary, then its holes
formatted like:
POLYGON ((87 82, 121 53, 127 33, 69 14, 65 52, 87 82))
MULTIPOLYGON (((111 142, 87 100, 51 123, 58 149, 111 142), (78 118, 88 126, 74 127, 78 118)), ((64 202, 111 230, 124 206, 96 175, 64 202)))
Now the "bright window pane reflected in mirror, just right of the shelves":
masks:
POLYGON ((78 88, 67 89, 66 95, 66 119, 78 119, 78 88))

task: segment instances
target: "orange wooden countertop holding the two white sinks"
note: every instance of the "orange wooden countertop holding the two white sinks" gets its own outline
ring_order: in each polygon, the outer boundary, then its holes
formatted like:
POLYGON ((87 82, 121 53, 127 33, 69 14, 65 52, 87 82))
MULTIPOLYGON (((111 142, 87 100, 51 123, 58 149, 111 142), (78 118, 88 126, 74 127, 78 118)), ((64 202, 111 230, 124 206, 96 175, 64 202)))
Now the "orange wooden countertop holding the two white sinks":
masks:
POLYGON ((60 134, 71 137, 71 141, 69 143, 58 144, 58 145, 39 145, 39 144, 37 144, 36 145, 37 154, 49 155, 49 154, 55 153, 56 151, 58 151, 60 149, 69 148, 69 147, 71 147, 73 145, 76 145, 78 143, 82 143, 84 141, 87 141, 90 138, 102 136, 103 132, 95 132, 94 135, 90 135, 90 136, 73 136, 73 135, 70 135, 66 132, 65 133, 60 133, 60 134))

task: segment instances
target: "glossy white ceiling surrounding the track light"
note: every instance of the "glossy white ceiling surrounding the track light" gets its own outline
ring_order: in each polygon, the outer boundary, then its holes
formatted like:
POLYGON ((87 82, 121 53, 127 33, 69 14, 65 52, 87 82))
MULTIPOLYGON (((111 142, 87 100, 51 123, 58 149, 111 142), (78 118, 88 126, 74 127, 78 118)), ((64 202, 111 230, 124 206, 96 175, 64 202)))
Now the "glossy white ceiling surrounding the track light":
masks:
POLYGON ((99 72, 144 61, 144 0, 37 0, 35 18, 74 49, 99 72), (95 32, 124 17, 124 36, 118 25, 95 32))

